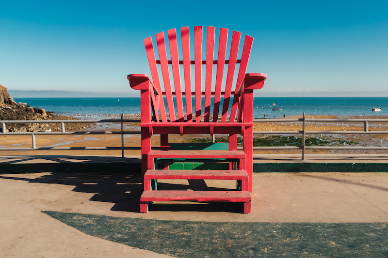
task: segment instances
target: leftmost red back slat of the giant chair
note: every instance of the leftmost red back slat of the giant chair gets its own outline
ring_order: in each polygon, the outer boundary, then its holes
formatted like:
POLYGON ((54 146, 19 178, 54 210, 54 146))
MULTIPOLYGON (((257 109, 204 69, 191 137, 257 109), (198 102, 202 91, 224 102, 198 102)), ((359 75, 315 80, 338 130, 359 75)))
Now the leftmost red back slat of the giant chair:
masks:
POLYGON ((151 76, 154 80, 154 86, 160 92, 160 94, 158 95, 160 98, 159 99, 160 101, 158 103, 159 105, 155 105, 156 103, 154 103, 154 108, 157 107, 157 108, 155 108, 156 110, 154 111, 155 118, 157 118, 156 121, 159 121, 158 113, 160 112, 162 122, 167 122, 167 116, 166 116, 166 111, 165 111, 164 104, 163 104, 162 89, 161 89, 161 84, 160 84, 160 80, 159 80, 158 68, 156 66, 155 52, 154 52, 154 47, 152 46, 152 38, 151 37, 146 38, 144 40, 144 45, 146 46, 146 53, 147 53, 147 58, 148 58, 148 63, 149 63, 149 69, 151 71, 151 76), (158 110, 159 110, 159 112, 158 112, 158 110))

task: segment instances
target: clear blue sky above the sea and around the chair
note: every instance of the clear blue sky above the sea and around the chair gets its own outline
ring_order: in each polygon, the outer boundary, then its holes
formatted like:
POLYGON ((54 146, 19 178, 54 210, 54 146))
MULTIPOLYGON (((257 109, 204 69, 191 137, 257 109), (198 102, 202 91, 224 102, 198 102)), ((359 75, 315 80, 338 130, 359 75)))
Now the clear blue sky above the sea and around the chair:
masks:
POLYGON ((388 96, 388 1, 373 0, 0 0, 0 84, 138 96, 143 40, 195 25, 254 37, 263 96, 388 96))

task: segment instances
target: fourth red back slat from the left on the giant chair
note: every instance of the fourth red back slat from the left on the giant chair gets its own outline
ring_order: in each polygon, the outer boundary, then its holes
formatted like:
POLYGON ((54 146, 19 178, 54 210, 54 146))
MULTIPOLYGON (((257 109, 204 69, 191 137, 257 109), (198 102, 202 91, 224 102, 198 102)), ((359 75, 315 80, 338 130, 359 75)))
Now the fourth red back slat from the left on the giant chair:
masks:
MULTIPOLYGON (((191 72, 190 72, 190 33, 189 27, 180 29, 182 35, 182 54, 183 54, 183 72, 185 81, 185 96, 186 96, 186 114, 187 121, 193 121, 193 103, 191 90, 191 72)), ((180 63, 180 62, 179 62, 180 63)), ((174 92, 173 92, 174 93, 174 92)))

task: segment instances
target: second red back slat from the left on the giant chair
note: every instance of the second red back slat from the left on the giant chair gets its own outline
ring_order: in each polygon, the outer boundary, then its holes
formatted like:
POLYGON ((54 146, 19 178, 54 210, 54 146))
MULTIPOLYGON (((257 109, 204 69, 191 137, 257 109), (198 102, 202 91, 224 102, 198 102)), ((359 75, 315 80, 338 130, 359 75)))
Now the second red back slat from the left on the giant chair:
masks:
POLYGON ((164 91, 166 92, 166 100, 170 121, 176 121, 173 94, 170 83, 170 73, 168 71, 166 44, 164 42, 164 33, 156 34, 156 43, 158 44, 159 58, 161 60, 161 69, 163 76, 164 91))

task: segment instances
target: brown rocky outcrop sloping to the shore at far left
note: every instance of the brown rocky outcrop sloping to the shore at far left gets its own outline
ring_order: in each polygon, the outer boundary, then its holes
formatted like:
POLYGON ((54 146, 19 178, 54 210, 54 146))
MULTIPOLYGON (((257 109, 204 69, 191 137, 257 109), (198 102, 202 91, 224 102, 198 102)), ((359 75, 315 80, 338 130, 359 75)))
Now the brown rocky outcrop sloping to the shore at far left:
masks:
MULTIPOLYGON (((75 120, 72 117, 54 115, 43 108, 31 107, 27 103, 16 103, 7 88, 0 84, 1 120, 75 120)), ((90 128, 88 123, 65 123, 65 130, 90 128)), ((6 123, 7 132, 32 132, 36 130, 61 131, 60 123, 6 123)), ((1 130, 1 129, 0 129, 1 130)))

